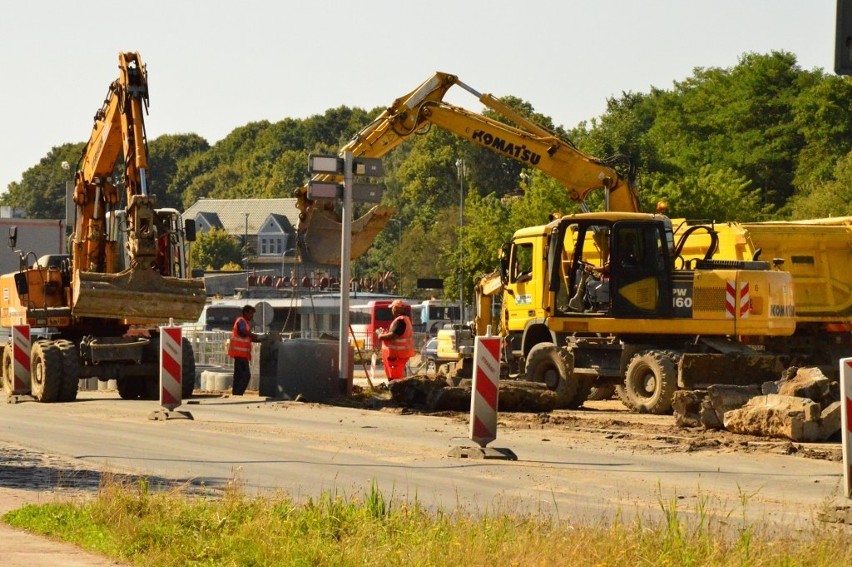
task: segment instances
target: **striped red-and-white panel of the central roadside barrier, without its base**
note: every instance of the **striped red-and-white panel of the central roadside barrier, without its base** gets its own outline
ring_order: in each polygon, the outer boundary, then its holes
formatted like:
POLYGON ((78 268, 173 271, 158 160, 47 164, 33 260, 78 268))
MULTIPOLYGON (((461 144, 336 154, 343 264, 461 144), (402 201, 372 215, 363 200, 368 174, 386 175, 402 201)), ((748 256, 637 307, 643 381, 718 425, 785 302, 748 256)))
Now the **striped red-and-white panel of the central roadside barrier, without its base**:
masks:
POLYGON ((473 348, 473 396, 470 438, 485 447, 497 439, 497 397, 500 390, 500 337, 476 337, 473 348))

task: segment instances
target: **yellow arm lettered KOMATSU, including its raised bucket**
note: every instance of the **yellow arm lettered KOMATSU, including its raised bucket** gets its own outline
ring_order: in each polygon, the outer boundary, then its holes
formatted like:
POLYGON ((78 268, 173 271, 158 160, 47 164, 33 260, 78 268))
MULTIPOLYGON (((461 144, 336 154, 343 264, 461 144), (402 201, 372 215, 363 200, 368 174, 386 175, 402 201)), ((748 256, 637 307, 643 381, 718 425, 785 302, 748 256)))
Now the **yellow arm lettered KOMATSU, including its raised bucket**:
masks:
MULTIPOLYGON (((631 181, 620 176, 611 165, 584 154, 493 95, 479 93, 455 75, 447 73, 435 73, 419 87, 396 99, 378 118, 358 132, 341 153, 351 151, 355 157, 380 157, 429 125, 542 170, 562 183, 571 198, 581 204, 591 191, 603 189, 608 209, 639 211, 638 197, 631 181), (515 126, 445 103, 443 98, 453 85, 470 92, 487 108, 515 126)), ((329 176, 316 176, 314 179, 324 181, 329 176)), ((300 210, 302 253, 319 263, 339 263, 341 224, 334 215, 334 202, 311 201, 307 198, 307 185, 296 190, 296 197, 300 210)), ((355 222, 352 259, 366 252, 392 213, 389 207, 377 206, 355 222)))

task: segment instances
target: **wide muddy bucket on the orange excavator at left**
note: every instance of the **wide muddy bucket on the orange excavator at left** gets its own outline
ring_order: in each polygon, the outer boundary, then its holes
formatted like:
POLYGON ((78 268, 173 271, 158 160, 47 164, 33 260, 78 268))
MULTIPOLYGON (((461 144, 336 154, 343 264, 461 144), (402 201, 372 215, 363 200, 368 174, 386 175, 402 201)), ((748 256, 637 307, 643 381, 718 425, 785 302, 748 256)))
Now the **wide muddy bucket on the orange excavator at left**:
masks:
POLYGON ((131 323, 192 322, 198 320, 207 299, 204 282, 163 277, 152 269, 75 275, 71 310, 75 317, 131 323))

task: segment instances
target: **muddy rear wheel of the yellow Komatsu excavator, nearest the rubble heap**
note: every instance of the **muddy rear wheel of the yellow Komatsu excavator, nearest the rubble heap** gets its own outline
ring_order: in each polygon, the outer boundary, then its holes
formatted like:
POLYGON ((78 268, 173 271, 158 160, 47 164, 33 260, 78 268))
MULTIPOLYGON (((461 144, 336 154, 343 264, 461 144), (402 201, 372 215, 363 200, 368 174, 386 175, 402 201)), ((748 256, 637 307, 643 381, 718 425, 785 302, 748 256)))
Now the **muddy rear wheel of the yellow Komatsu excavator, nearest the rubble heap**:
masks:
POLYGON ((624 386, 637 411, 668 413, 677 390, 677 367, 668 353, 643 351, 627 365, 624 386))

